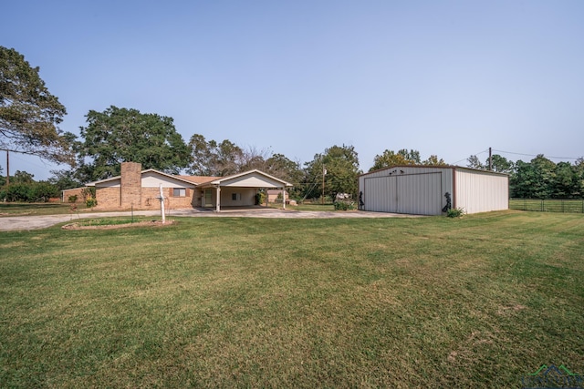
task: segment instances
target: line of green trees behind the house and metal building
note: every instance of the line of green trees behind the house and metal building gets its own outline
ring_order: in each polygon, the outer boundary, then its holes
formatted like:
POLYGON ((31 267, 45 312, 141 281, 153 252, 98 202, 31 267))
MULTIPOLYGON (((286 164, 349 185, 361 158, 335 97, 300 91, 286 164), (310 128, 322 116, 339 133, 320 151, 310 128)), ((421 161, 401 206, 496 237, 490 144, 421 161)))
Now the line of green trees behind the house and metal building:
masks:
MULTIPOLYGON (((53 177, 43 182, 43 187, 52 186, 58 192, 108 179, 120 174, 121 162, 133 161, 141 163, 143 169, 197 176, 224 177, 259 169, 292 183, 293 197, 332 199, 337 193, 348 193, 357 198, 358 176, 362 171, 357 151, 348 145, 325 148, 301 164, 266 149, 240 147, 228 139, 193 134, 185 142, 172 118, 114 106, 101 112, 89 110, 78 136, 63 132, 58 124, 66 115, 66 108, 48 92, 38 71, 15 49, 0 46, 0 148, 70 166, 51 171, 53 177)), ((516 163, 498 155, 491 159, 495 171, 510 175, 514 197, 581 197, 584 193, 582 159, 574 164, 555 164, 543 156, 516 163)), ((406 148, 386 149, 373 162, 370 171, 396 165, 446 165, 436 155, 422 159, 419 151, 406 148)), ((471 156, 468 166, 486 169, 488 163, 471 156)), ((15 185, 32 188, 33 183, 28 173, 16 172, 15 185)), ((52 197, 47 190, 38 189, 39 185, 26 195, 24 189, 17 190, 12 185, 6 188, 4 179, 0 186, 3 187, 0 198, 5 200, 52 197)))

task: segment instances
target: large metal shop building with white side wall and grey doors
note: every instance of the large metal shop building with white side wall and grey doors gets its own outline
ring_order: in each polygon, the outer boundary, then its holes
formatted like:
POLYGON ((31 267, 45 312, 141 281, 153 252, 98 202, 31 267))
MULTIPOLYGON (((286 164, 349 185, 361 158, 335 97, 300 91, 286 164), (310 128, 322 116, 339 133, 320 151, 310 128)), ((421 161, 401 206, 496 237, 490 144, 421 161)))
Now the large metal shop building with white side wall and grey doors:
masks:
POLYGON ((440 215, 446 193, 465 213, 507 210, 509 177, 458 166, 394 166, 359 177, 362 210, 440 215))

